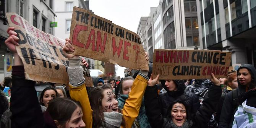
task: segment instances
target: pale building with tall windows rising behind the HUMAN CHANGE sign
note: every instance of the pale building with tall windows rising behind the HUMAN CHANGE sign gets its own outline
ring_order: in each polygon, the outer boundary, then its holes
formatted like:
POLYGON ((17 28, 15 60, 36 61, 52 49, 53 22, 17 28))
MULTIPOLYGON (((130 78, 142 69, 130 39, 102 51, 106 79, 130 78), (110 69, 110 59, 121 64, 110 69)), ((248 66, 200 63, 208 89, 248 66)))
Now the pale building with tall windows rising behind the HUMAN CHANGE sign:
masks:
POLYGON ((160 0, 157 7, 151 7, 149 16, 141 17, 137 29, 151 60, 154 49, 199 47, 197 16, 196 0, 160 0))

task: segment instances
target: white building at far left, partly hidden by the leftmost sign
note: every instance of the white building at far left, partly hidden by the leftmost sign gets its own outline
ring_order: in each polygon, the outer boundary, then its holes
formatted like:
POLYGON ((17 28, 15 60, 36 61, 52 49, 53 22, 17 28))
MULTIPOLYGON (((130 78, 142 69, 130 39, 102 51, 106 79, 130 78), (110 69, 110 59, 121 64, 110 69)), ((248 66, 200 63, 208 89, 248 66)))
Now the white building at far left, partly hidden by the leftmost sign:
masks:
MULTIPOLYGON (((1 0, 6 12, 15 12, 29 21, 36 28, 53 34, 54 29, 50 27, 55 22, 54 0, 1 0)), ((8 22, 5 14, 0 16, 0 81, 5 76, 11 76, 13 66, 13 53, 7 49, 4 41, 8 38, 6 30, 8 22)))

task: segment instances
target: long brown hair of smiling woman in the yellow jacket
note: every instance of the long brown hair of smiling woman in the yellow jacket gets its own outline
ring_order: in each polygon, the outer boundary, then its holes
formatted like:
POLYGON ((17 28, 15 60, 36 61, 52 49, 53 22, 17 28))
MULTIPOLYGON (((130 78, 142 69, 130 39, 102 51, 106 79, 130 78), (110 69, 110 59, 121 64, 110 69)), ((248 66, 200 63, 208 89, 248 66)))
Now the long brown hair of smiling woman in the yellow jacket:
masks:
MULTIPOLYGON (((94 87, 88 93, 91 109, 92 109, 92 117, 93 117, 93 128, 99 128, 104 125, 105 128, 105 119, 104 119, 104 111, 102 109, 102 99, 104 98, 103 92, 106 89, 110 89, 109 85, 102 85, 98 87, 94 87)), ((122 113, 122 111, 118 108, 118 112, 122 113)), ((122 119, 122 126, 125 126, 124 119, 122 119)))

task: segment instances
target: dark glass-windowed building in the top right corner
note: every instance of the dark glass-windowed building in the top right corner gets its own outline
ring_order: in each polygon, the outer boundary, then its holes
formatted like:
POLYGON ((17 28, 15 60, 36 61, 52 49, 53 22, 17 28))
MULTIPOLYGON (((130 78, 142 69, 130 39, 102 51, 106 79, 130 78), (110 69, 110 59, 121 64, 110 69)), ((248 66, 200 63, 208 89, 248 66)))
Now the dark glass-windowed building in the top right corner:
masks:
POLYGON ((256 66, 256 0, 197 0, 202 49, 232 52, 232 65, 256 66))

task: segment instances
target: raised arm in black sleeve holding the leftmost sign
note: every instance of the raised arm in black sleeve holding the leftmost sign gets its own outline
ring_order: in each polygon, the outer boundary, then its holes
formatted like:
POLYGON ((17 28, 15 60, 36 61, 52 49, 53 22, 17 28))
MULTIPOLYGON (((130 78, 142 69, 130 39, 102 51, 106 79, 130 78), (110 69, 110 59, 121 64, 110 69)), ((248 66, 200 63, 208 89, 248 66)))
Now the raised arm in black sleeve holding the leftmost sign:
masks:
POLYGON ((25 79, 24 66, 15 48, 15 45, 19 45, 19 38, 13 27, 9 27, 7 33, 9 37, 5 44, 15 57, 11 79, 11 126, 12 128, 43 128, 44 118, 34 87, 35 81, 25 79))

